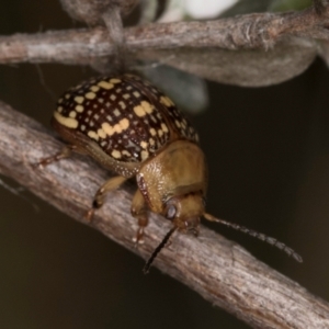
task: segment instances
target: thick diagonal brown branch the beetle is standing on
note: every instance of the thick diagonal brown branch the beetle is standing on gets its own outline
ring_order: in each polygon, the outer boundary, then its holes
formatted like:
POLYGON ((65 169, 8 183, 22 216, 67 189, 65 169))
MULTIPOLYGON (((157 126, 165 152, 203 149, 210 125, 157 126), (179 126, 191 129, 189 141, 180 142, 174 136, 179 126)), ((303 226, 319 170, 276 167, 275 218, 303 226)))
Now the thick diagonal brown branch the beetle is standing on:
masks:
MULTIPOLYGON (((107 173, 78 156, 44 170, 35 169, 33 163, 61 147, 38 123, 0 103, 0 172, 87 224, 86 209, 107 173)), ((152 215, 145 245, 134 249, 136 223, 129 214, 131 200, 128 184, 111 193, 91 226, 148 258, 168 231, 169 223, 152 215)), ((170 247, 160 252, 155 266, 253 328, 329 328, 326 302, 204 227, 200 238, 177 234, 170 247)))

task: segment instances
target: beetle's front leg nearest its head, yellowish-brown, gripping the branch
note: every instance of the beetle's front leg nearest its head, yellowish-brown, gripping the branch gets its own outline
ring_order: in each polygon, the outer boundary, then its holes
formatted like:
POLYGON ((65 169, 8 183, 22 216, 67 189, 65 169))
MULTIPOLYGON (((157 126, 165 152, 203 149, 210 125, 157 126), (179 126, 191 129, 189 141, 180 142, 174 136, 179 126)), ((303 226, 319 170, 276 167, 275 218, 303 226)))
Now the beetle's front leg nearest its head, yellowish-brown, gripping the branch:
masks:
POLYGON ((133 197, 131 212, 132 215, 138 220, 138 229, 136 237, 134 238, 135 247, 138 247, 139 243, 144 242, 144 228, 148 224, 146 202, 139 190, 136 191, 133 197))

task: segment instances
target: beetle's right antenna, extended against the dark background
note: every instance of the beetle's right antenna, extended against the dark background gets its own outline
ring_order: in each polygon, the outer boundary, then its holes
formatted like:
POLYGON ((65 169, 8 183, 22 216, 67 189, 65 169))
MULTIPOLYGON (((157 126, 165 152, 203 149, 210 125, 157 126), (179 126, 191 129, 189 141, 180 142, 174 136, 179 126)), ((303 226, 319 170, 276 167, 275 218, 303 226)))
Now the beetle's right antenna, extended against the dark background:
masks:
POLYGON ((266 236, 262 232, 258 232, 253 229, 249 229, 245 226, 241 226, 241 225, 238 225, 238 224, 235 224, 235 223, 230 223, 230 222, 226 222, 224 219, 216 218, 211 214, 204 214, 203 216, 204 216, 204 218, 206 218, 209 222, 216 222, 216 223, 223 224, 223 225, 231 227, 236 230, 242 231, 242 232, 245 232, 245 234, 247 234, 251 237, 254 237, 257 239, 265 241, 265 242, 270 243, 271 246, 274 246, 274 247, 281 249, 282 251, 287 253, 290 257, 294 258, 297 262, 299 262, 299 263, 303 262, 303 258, 295 250, 287 247, 283 242, 276 240, 275 238, 269 237, 269 236, 266 236))

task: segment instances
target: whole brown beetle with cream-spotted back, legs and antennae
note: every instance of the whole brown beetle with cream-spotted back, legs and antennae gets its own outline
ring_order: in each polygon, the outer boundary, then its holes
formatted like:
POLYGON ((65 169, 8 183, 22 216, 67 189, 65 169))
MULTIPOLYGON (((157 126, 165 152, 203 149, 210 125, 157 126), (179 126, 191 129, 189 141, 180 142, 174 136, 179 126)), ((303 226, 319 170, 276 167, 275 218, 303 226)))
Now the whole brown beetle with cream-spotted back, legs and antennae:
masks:
POLYGON ((148 209, 172 223, 145 272, 175 230, 197 236, 201 217, 265 240, 302 261, 276 239, 205 212, 207 166, 198 135, 171 99, 140 77, 105 76, 71 88, 58 100, 52 125, 69 145, 41 160, 41 167, 76 151, 117 174, 95 193, 89 219, 107 192, 135 177, 138 189, 131 212, 138 222, 136 245, 143 241, 148 209))

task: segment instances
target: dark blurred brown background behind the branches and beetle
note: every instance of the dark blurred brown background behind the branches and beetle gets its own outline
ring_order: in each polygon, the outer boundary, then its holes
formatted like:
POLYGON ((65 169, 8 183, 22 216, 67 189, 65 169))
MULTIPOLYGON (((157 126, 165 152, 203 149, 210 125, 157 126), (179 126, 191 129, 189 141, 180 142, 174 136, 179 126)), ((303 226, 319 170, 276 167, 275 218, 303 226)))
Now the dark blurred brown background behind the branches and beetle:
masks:
MULTIPOLYGON (((1 35, 79 26, 56 0, 1 1, 0 13, 1 35)), ((0 99, 49 126, 56 97, 92 73, 0 66, 0 99)), ((191 117, 209 166, 208 212, 286 242, 304 263, 214 229, 327 300, 328 87, 320 59, 279 86, 208 82, 209 106, 191 117)), ((247 328, 157 269, 145 276, 140 258, 0 179, 0 328, 247 328)))

